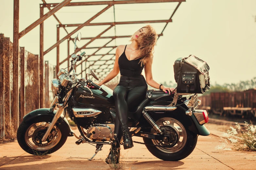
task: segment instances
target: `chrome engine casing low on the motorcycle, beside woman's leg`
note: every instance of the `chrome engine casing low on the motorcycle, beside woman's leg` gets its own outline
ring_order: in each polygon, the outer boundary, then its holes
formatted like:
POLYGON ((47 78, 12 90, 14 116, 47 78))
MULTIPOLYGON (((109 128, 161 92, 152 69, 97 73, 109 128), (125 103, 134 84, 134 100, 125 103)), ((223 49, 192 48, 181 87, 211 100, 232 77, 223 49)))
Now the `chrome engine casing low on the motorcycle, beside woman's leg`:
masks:
POLYGON ((87 137, 94 140, 110 140, 114 137, 114 124, 98 124, 87 130, 87 137))

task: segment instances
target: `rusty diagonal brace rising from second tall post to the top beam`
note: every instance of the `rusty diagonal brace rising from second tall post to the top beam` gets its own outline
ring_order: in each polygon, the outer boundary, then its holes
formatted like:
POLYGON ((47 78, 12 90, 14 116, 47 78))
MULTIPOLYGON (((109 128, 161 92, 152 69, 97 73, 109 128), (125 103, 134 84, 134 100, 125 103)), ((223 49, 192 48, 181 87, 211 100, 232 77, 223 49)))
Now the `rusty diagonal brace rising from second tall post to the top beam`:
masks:
POLYGON ((44 51, 44 55, 47 54, 49 51, 60 45, 64 40, 68 39, 71 35, 75 34, 78 30, 80 30, 82 27, 86 26, 88 23, 93 21, 96 17, 98 17, 100 14, 105 12, 107 9, 109 9, 111 6, 107 6, 104 9, 102 9, 100 12, 98 12, 96 15, 94 15, 92 18, 90 18, 88 21, 84 22, 83 24, 80 24, 75 30, 73 30, 71 33, 63 37, 61 40, 57 41, 56 44, 54 44, 52 47, 50 47, 48 50, 44 51))

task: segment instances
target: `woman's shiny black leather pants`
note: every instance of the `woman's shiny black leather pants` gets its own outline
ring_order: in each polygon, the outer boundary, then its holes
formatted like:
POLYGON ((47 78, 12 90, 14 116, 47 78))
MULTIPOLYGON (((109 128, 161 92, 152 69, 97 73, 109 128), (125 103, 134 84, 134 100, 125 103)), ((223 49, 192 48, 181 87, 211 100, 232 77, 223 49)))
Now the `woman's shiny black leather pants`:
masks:
POLYGON ((119 84, 113 90, 113 97, 115 99, 115 129, 114 133, 117 135, 117 139, 122 138, 123 127, 128 133, 128 110, 138 106, 146 97, 148 90, 146 80, 143 75, 136 77, 121 76, 119 84))

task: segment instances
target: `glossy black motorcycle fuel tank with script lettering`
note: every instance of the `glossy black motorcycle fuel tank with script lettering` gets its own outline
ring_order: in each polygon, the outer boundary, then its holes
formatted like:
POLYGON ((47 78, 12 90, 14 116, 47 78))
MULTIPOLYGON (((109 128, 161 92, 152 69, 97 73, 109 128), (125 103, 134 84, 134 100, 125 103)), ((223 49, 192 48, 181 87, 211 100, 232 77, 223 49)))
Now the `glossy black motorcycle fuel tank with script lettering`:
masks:
POLYGON ((84 87, 77 87, 75 90, 74 101, 78 106, 114 106, 113 91, 105 85, 101 86, 105 92, 95 88, 90 88, 91 92, 84 87))

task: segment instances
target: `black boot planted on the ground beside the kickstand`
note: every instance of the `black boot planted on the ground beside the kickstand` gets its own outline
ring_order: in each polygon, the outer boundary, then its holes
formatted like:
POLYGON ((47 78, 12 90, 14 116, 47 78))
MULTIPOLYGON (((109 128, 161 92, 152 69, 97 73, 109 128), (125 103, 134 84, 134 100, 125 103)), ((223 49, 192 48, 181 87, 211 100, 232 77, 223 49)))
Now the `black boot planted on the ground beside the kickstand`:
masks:
POLYGON ((120 158, 120 144, 119 141, 115 138, 111 142, 111 148, 108 157, 106 158, 106 163, 111 164, 117 164, 119 163, 120 158))

